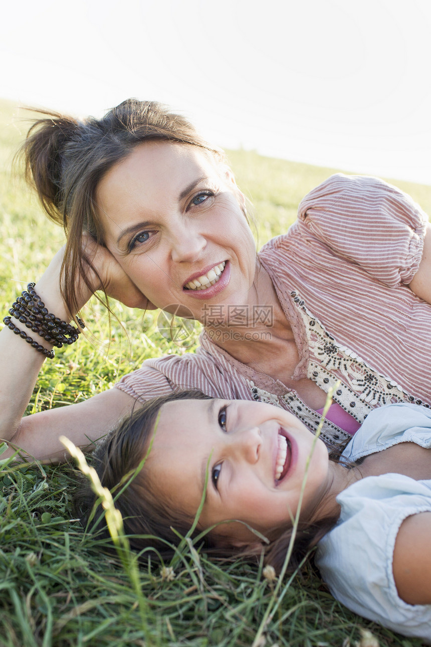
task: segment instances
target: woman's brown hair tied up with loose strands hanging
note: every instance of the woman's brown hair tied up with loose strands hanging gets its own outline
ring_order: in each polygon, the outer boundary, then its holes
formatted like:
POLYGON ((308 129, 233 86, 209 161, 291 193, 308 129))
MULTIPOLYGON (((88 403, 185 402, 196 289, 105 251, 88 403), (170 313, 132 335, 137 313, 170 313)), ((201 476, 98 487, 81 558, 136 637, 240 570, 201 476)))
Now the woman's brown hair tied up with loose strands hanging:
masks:
POLYGON ((220 162, 224 155, 209 146, 184 116, 156 102, 128 99, 101 119, 83 121, 36 112, 45 117, 30 127, 18 156, 24 158, 26 179, 36 188, 48 217, 62 225, 67 234, 61 293, 74 314, 78 309, 78 272, 92 289, 87 278, 91 263, 82 252, 83 232, 103 245, 95 204, 101 177, 136 146, 151 140, 198 146, 220 162))

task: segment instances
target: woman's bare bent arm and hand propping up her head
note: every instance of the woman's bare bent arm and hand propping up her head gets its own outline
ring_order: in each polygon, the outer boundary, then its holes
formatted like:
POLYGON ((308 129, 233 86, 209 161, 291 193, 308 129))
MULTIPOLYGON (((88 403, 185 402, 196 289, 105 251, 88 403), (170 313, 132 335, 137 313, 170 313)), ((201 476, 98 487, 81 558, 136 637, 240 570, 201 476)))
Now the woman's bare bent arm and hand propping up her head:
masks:
MULTIPOLYGON (((50 313, 68 322, 76 313, 68 313, 61 296, 63 254, 64 250, 61 249, 54 256, 37 281, 35 291, 50 313)), ((103 283, 109 296, 120 299, 131 307, 147 307, 147 299, 136 289, 117 261, 106 248, 96 245, 90 237, 85 238, 85 257, 96 270, 94 272, 89 266, 87 273, 87 280, 90 285, 94 285, 94 290, 100 289, 103 283)), ((77 281, 78 309, 81 309, 92 296, 92 291, 79 277, 77 281)), ((6 314, 8 313, 3 316, 6 314)), ((16 318, 12 317, 12 323, 43 347, 52 348, 45 339, 27 329, 16 318)), ((66 435, 75 444, 88 444, 106 433, 121 416, 136 406, 132 397, 118 389, 111 389, 80 404, 23 418, 44 360, 42 353, 26 344, 24 339, 7 326, 0 332, 0 439, 17 444, 29 455, 38 459, 61 460, 65 452, 58 441, 59 435, 66 435)), ((6 455, 11 452, 12 448, 6 455)))

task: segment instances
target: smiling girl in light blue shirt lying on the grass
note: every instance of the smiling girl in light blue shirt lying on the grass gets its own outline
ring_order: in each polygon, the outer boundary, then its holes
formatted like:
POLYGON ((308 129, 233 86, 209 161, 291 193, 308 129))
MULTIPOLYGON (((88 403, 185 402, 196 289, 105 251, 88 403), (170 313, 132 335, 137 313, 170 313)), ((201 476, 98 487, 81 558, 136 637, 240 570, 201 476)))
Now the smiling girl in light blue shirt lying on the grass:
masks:
MULTIPOLYGON (((189 531, 205 494, 195 536, 208 532, 199 543, 219 554, 264 550, 280 570, 300 505, 291 567, 317 544, 337 599, 431 639, 430 448, 431 411, 414 404, 372 411, 335 459, 288 411, 187 391, 147 402, 95 457, 103 485, 115 490, 149 450, 116 499, 134 548, 168 557, 173 529, 189 531)), ((83 486, 78 509, 88 518, 93 506, 83 486)), ((100 510, 92 519, 103 525, 100 510)))

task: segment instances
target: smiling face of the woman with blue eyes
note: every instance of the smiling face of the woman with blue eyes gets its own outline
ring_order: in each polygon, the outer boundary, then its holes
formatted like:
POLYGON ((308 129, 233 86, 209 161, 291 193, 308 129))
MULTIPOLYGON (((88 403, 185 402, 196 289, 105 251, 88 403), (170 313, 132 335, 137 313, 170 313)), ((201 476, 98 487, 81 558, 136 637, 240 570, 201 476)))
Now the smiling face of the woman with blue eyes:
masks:
POLYGON ((157 307, 182 305, 200 320, 204 303, 249 300, 256 248, 238 199, 233 177, 204 151, 155 141, 96 192, 105 244, 126 274, 157 307))

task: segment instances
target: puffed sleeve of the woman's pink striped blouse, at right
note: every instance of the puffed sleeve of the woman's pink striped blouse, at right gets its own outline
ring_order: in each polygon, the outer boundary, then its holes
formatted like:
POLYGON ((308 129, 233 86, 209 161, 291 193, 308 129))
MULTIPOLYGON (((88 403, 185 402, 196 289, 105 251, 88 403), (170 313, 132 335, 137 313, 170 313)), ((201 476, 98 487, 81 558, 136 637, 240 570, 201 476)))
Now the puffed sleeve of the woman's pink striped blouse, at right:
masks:
POLYGON ((428 217, 383 180, 332 175, 304 197, 298 217, 334 254, 389 287, 410 283, 419 267, 428 217))

